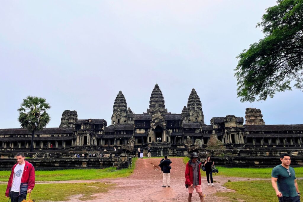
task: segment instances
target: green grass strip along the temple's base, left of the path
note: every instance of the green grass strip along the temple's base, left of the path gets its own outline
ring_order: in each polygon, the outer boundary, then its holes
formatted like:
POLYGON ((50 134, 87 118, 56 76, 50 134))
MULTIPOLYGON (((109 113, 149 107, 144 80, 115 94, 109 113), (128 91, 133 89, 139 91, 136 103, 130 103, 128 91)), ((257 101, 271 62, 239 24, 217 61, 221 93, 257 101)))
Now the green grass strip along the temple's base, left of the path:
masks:
MULTIPOLYGON (((128 177, 133 173, 137 160, 138 158, 132 159, 132 168, 121 169, 118 171, 115 167, 104 169, 36 171, 36 181, 94 180, 102 178, 128 177)), ((0 171, 0 181, 7 182, 10 173, 11 171, 0 171)))

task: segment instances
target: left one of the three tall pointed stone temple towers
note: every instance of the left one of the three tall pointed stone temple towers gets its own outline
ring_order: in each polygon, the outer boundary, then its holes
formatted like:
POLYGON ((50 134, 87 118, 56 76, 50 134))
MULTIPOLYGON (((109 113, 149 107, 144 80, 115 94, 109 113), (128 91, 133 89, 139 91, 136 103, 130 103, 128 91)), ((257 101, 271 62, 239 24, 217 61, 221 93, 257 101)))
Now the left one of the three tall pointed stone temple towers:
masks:
POLYGON ((112 125, 127 124, 127 104, 122 91, 119 91, 113 106, 112 125))

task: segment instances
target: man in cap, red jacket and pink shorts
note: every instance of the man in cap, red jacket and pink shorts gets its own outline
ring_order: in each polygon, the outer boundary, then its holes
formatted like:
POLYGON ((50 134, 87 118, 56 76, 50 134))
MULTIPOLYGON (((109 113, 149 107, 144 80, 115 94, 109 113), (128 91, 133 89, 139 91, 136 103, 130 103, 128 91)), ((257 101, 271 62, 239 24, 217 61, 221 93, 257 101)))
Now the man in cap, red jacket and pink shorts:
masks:
POLYGON ((200 201, 204 202, 204 197, 201 188, 201 162, 198 161, 197 152, 191 154, 191 159, 187 162, 185 168, 185 186, 188 187, 188 202, 191 202, 191 196, 196 188, 196 192, 199 194, 200 201))

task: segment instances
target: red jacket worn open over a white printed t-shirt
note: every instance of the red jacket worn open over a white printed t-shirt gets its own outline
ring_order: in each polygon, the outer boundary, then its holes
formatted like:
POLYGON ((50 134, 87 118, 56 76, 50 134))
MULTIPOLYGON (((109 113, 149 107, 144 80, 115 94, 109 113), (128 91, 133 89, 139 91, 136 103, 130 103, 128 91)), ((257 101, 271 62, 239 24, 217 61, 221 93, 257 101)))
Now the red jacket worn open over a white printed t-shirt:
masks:
MULTIPOLYGON (((5 196, 9 196, 9 192, 12 187, 13 183, 13 177, 14 177, 14 169, 18 163, 16 163, 12 167, 11 175, 9 176, 9 180, 7 183, 7 188, 5 191, 5 196)), ((25 194, 28 189, 33 190, 35 187, 35 168, 33 164, 29 163, 28 161, 25 161, 25 166, 21 178, 21 185, 20 185, 20 194, 25 194)))

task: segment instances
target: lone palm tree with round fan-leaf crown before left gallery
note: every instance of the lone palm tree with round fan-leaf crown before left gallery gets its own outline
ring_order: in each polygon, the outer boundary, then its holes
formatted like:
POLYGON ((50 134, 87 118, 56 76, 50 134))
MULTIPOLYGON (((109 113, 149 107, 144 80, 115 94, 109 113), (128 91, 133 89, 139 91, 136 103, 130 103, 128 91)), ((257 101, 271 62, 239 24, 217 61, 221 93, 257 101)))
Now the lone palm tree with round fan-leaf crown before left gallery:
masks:
POLYGON ((32 133, 30 152, 34 147, 34 134, 35 131, 42 130, 51 120, 46 112, 51 106, 44 98, 28 96, 23 99, 19 111, 18 121, 22 128, 27 128, 32 133))

